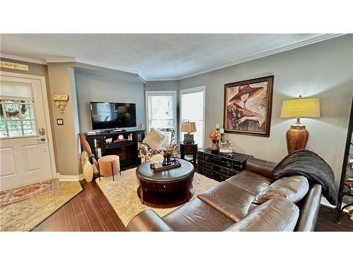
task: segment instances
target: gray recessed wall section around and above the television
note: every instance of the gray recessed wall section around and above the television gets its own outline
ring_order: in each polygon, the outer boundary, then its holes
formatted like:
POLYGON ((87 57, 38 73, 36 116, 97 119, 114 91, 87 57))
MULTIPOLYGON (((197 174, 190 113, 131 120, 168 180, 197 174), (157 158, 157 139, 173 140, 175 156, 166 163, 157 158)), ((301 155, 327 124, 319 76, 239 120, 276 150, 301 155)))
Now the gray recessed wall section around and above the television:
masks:
POLYGON ((136 123, 145 124, 145 101, 142 82, 121 81, 75 72, 80 132, 91 131, 90 102, 136 103, 136 123))

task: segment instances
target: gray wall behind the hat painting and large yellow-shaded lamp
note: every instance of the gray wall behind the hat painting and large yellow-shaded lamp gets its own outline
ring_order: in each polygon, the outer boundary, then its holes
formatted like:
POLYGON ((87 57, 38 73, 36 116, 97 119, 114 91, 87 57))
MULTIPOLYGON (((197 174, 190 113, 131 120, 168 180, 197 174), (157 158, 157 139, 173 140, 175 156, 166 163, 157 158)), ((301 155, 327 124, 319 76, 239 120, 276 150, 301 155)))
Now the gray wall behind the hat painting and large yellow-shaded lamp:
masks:
POLYGON ((208 132, 223 123, 224 85, 275 75, 270 137, 225 134, 235 151, 273 161, 287 155, 285 133, 294 119, 280 119, 287 98, 318 97, 321 118, 302 119, 309 130, 307 148, 321 155, 340 179, 353 95, 353 37, 345 35, 179 81, 179 89, 206 86, 205 146, 208 132))

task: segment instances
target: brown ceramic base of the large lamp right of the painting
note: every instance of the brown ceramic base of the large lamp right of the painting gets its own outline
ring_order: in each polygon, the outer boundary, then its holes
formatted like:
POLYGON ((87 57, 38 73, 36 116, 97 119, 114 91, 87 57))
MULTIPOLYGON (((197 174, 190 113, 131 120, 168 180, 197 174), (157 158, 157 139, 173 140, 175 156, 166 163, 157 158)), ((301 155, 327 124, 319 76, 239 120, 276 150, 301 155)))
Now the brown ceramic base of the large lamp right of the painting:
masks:
POLYGON ((296 123, 290 126, 286 136, 287 151, 288 153, 293 153, 298 149, 306 147, 309 139, 309 131, 305 129, 304 125, 296 123))

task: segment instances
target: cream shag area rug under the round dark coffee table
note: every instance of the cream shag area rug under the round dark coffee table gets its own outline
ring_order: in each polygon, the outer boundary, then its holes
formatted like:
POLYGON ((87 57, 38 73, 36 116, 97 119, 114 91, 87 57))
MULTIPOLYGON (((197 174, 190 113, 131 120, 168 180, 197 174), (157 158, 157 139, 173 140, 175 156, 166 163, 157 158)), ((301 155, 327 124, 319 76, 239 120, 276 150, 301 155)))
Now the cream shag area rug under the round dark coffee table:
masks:
MULTIPOLYGON (((158 213, 159 216, 165 216, 167 213, 177 208, 152 208, 141 204, 136 192, 138 183, 135 172, 136 168, 122 171, 121 176, 116 175, 116 177, 114 177, 114 182, 112 177, 101 177, 101 181, 100 179, 95 180, 125 226, 133 216, 136 216, 137 213, 146 209, 152 209, 158 213)), ((209 179, 195 172, 193 177, 193 198, 217 183, 218 182, 214 179, 209 179)))

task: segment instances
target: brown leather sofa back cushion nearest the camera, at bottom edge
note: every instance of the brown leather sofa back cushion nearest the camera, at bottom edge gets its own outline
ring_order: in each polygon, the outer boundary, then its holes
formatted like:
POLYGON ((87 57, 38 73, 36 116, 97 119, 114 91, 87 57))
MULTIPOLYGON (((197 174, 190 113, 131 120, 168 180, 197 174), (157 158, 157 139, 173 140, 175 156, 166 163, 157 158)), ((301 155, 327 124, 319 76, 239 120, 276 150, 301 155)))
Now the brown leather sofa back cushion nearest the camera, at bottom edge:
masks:
POLYGON ((226 231, 292 232, 297 224, 299 208, 283 197, 266 201, 256 207, 243 220, 231 225, 226 231))

